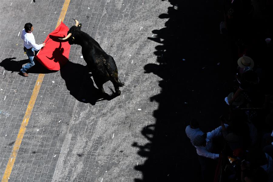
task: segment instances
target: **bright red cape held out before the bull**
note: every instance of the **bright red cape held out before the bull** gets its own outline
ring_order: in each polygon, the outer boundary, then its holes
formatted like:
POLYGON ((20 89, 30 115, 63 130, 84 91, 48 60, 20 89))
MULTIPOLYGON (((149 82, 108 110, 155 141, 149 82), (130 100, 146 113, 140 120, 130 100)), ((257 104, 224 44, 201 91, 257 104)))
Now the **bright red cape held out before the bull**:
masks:
POLYGON ((61 24, 45 39, 45 47, 43 47, 37 56, 38 60, 45 68, 50 70, 60 70, 66 64, 70 52, 70 44, 58 38, 64 38, 69 28, 61 22, 61 24))

